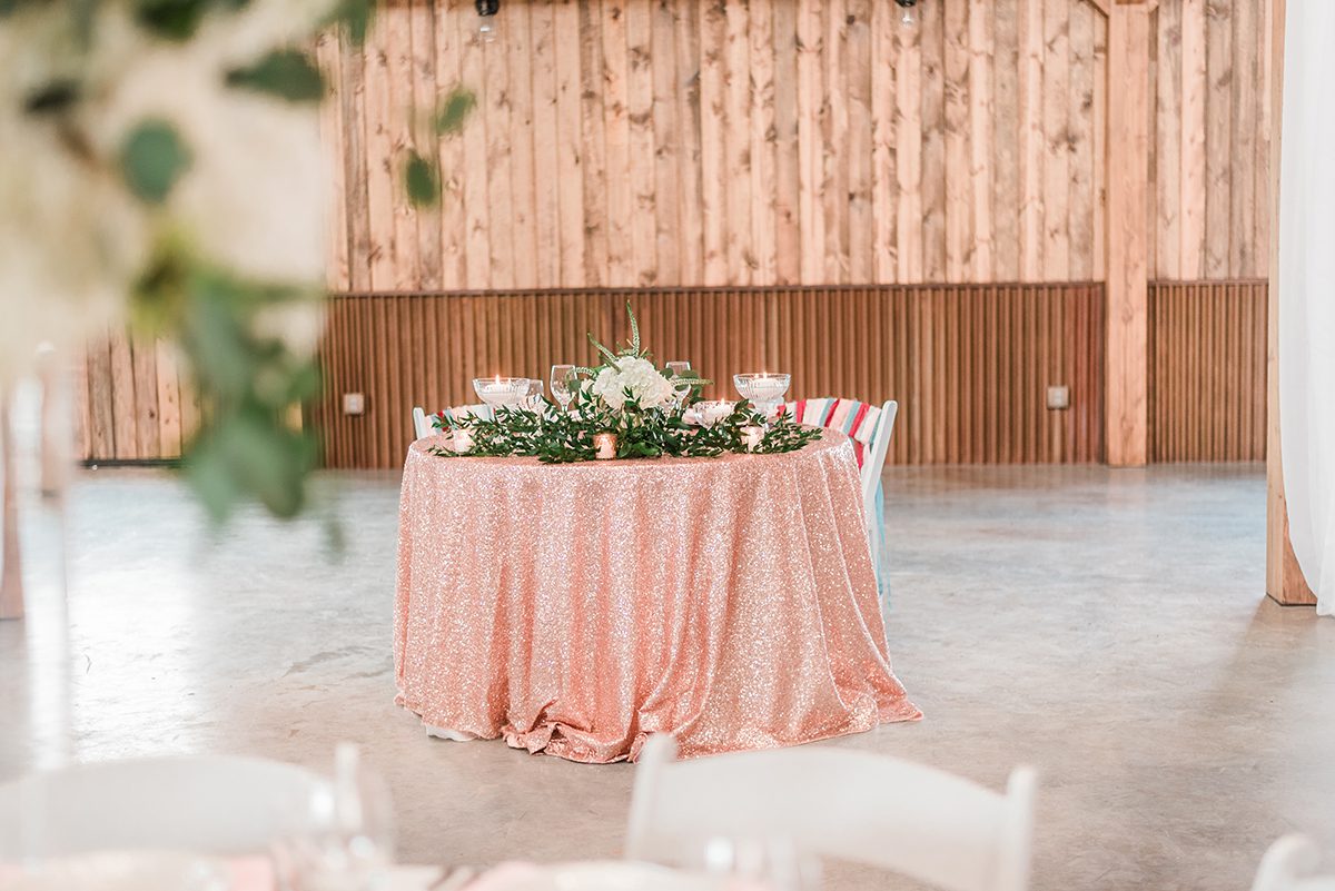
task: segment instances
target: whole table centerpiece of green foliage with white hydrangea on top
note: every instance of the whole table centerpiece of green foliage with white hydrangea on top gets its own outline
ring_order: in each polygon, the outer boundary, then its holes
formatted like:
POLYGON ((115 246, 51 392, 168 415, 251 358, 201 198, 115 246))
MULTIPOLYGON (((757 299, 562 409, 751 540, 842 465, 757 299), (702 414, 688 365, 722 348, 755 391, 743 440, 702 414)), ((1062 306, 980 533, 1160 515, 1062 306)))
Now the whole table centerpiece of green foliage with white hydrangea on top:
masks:
POLYGON ((597 458, 595 437, 610 433, 615 458, 714 458, 725 452, 793 452, 820 439, 817 428, 801 427, 780 412, 766 423, 749 401, 737 403, 732 412, 709 425, 688 421, 690 405, 700 400, 701 388, 712 383, 692 372, 673 375, 653 363, 639 343, 639 324, 630 315, 630 343, 615 351, 601 344, 590 332, 589 341, 602 364, 579 367, 582 376, 570 411, 547 400, 535 407, 502 407, 494 417, 457 417, 450 412, 435 416, 442 432, 467 431, 471 447, 454 451, 433 446, 443 458, 482 455, 490 458, 527 456, 558 464, 597 458), (684 393, 684 395, 682 395, 684 393))

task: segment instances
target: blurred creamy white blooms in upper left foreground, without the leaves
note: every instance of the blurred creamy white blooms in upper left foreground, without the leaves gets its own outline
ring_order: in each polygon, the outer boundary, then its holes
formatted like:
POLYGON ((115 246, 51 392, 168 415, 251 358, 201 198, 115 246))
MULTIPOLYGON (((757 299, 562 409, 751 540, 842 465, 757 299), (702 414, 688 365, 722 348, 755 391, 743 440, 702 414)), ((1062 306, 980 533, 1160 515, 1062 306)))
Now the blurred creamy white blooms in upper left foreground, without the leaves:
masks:
MULTIPOLYGON (((228 88, 224 73, 300 39, 328 7, 255 0, 172 43, 136 27, 128 4, 101 4, 87 55, 71 43, 65 4, 0 20, 0 381, 23 373, 39 343, 76 347, 119 324, 158 228, 236 275, 320 284, 328 159, 316 109, 228 88), (75 71, 89 96, 77 151, 23 111, 35 88, 75 71), (127 133, 150 117, 170 121, 191 153, 162 208, 129 195, 117 167, 127 133)), ((310 349, 319 304, 283 315, 284 337, 310 349)))

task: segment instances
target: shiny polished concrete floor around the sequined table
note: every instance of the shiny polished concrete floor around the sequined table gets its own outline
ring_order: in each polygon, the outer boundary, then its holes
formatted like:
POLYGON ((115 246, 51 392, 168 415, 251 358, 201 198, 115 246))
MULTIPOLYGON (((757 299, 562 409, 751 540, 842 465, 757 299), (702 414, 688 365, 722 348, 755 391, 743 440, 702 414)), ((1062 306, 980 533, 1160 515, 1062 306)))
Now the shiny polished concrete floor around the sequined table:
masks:
MULTIPOLYGON (((83 474, 68 654, 57 528, 32 515, 32 615, 0 626, 0 779, 71 756, 319 764, 354 739, 392 784, 407 860, 617 855, 633 767, 427 739, 394 707, 396 480, 323 483, 343 556, 322 520, 212 534, 164 471, 83 474)), ((926 719, 828 744, 993 787, 1035 764, 1036 888, 1243 890, 1294 830, 1335 852, 1335 620, 1263 598, 1259 468, 886 483, 890 648, 926 719)), ((826 887, 878 886, 836 868, 826 887)))

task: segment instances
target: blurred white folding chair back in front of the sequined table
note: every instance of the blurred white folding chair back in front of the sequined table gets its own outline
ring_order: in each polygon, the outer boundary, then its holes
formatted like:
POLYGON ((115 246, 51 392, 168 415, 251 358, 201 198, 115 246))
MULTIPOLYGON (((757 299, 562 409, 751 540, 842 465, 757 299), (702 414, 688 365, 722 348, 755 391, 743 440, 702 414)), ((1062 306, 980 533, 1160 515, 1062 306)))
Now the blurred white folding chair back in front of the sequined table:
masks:
POLYGON ((947 891, 1023 891, 1035 774, 1005 795, 912 762, 808 746, 674 762, 639 755, 626 856, 684 860, 710 838, 789 839, 804 854, 889 870, 947 891))

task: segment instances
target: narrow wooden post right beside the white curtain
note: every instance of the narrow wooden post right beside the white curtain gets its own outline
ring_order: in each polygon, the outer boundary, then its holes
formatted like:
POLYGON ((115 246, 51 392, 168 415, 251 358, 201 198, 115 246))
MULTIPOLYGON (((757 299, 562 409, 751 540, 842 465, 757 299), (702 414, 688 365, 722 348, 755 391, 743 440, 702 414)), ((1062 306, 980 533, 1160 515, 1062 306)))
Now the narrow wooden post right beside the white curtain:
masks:
POLYGON ((1270 299, 1266 311, 1266 594, 1284 606, 1312 606, 1316 595, 1307 587, 1288 540, 1288 507, 1284 503, 1284 467, 1279 450, 1279 136, 1284 108, 1284 0, 1268 0, 1270 53, 1270 299))

